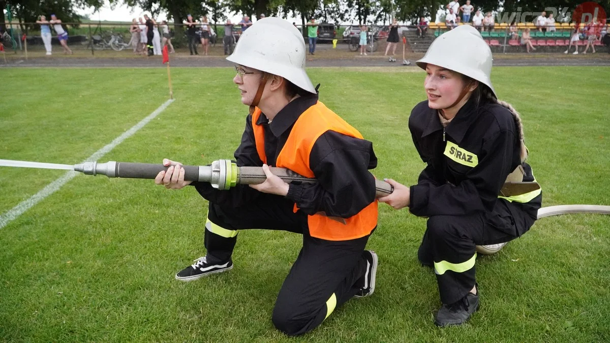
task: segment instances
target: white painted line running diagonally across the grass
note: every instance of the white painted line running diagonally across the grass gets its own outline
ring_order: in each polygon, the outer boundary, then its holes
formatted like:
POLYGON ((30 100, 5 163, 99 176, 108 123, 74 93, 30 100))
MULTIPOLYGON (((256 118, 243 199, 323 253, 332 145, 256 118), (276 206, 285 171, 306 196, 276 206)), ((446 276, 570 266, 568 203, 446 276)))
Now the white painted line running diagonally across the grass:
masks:
MULTIPOLYGON (((165 110, 167 106, 170 106, 173 101, 173 99, 165 101, 165 103, 159 106, 159 108, 149 114, 148 117, 142 119, 139 123, 132 126, 131 129, 123 132, 123 134, 115 138, 108 145, 104 146, 100 150, 93 153, 91 156, 87 157, 84 162, 97 161, 100 157, 104 156, 106 153, 109 153, 109 151, 115 148, 115 146, 119 145, 121 142, 134 135, 135 132, 137 132, 139 129, 142 129, 146 124, 148 124, 149 121, 157 117, 157 115, 163 112, 163 110, 165 110)), ((68 171, 67 173, 65 173, 65 175, 51 182, 45 188, 41 189, 38 193, 32 195, 32 197, 28 198, 27 200, 21 201, 21 203, 19 203, 17 206, 10 209, 9 212, 6 212, 2 216, 0 216, 0 229, 4 228, 4 226, 6 226, 8 223, 12 222, 21 214, 26 212, 28 209, 32 208, 32 206, 37 204, 39 201, 45 199, 46 197, 54 193, 56 190, 59 190, 60 187, 62 187, 64 184, 66 184, 66 182, 74 178, 74 176, 76 176, 77 174, 79 174, 77 171, 68 171)))

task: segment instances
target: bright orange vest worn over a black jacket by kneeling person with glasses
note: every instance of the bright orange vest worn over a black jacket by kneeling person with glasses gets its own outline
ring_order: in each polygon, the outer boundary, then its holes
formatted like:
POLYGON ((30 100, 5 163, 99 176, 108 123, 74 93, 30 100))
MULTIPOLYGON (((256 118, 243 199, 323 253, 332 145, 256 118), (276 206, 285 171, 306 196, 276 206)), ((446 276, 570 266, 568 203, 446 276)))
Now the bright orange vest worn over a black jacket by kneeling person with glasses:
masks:
MULTIPOLYGON (((252 128, 256 151, 260 160, 267 164, 265 131, 262 126, 256 124, 260 114, 262 112, 257 107, 252 115, 252 128)), ((314 106, 305 110, 296 120, 284 147, 278 155, 276 167, 288 168, 300 175, 314 178, 314 172, 309 167, 309 154, 314 148, 315 141, 326 131, 335 131, 362 139, 360 132, 318 101, 314 106)), ((309 215, 307 217, 309 234, 312 237, 326 240, 349 240, 367 236, 377 225, 377 204, 377 200, 373 201, 356 215, 346 218, 345 223, 340 223, 321 214, 309 215)), ((297 210, 298 207, 295 204, 294 211, 297 210)))

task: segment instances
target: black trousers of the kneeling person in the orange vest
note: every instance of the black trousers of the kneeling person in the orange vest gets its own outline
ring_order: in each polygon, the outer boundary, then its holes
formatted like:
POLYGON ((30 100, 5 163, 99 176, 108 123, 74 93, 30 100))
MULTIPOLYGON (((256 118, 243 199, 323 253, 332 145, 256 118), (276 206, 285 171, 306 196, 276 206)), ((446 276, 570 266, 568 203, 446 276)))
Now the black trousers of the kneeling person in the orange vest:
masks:
POLYGON ((231 259, 239 229, 303 235, 303 248, 282 284, 271 317, 273 325, 289 336, 313 330, 364 286, 367 261, 362 252, 370 236, 343 241, 311 237, 307 215, 294 213, 293 204, 270 194, 237 208, 210 202, 205 230, 207 262, 214 264, 231 259))

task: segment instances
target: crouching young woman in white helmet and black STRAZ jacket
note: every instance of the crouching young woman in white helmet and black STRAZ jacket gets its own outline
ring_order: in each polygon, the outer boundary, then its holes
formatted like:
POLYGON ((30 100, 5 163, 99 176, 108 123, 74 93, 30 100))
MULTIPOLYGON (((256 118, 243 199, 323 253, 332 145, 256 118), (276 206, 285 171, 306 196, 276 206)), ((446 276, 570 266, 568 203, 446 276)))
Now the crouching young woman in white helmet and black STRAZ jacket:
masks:
POLYGON ((439 284, 435 323, 460 325, 479 305, 476 251, 493 253, 528 231, 542 193, 525 163, 519 113, 493 90, 492 53, 479 32, 446 32, 417 65, 428 101, 411 111, 409 130, 427 165, 414 186, 388 180, 395 190, 379 201, 428 217, 418 258, 439 284))

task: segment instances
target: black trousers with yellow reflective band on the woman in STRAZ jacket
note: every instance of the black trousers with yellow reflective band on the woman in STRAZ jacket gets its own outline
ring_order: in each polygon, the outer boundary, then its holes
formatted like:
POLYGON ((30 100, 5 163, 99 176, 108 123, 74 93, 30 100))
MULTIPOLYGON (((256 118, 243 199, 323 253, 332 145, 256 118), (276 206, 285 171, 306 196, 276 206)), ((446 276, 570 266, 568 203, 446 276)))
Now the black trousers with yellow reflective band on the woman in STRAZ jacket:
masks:
POLYGON ((422 264, 434 267, 440 301, 455 303, 475 286, 475 245, 508 242, 533 224, 519 205, 503 199, 487 214, 429 217, 417 255, 422 264))

